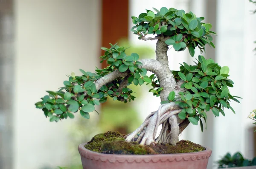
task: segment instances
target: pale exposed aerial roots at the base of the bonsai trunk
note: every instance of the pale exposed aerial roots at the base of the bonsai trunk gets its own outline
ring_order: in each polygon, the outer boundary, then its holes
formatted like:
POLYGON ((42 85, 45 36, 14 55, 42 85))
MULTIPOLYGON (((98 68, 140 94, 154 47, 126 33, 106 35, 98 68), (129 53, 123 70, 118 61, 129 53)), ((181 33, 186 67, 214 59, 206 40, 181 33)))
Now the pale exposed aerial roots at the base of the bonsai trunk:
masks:
POLYGON ((140 144, 149 145, 153 142, 169 143, 175 145, 178 142, 179 126, 177 114, 180 113, 180 107, 175 103, 162 104, 159 109, 152 112, 134 132, 125 136, 126 141, 133 140, 140 133, 137 141, 140 144), (159 137, 155 140, 157 129, 163 124, 159 137))

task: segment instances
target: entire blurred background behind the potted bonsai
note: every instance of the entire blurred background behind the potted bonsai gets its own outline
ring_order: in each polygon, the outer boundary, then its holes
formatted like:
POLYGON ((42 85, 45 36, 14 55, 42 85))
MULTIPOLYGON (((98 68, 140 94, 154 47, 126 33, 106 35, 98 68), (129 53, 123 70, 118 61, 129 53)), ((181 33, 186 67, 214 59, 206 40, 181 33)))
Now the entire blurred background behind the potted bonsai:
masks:
MULTIPOLYGON (((34 104, 45 90, 62 87, 65 74, 105 67, 99 63, 100 47, 108 43, 154 58, 156 42, 142 42, 129 31, 131 16, 163 6, 192 11, 212 24, 216 49, 207 47, 204 56, 230 68, 231 94, 244 98, 232 103, 236 115, 208 113, 207 130, 189 124, 180 139, 212 148, 207 169, 215 169, 227 152, 256 156, 255 129, 247 119, 256 109, 256 6, 249 0, 0 0, 0 169, 81 169, 80 143, 98 132, 131 132, 157 110, 160 98, 147 93, 148 86, 134 87, 132 103, 97 107, 100 115, 92 112, 89 120, 76 115, 50 123, 34 104)), ((172 70, 193 63, 187 50, 168 54, 172 70)))

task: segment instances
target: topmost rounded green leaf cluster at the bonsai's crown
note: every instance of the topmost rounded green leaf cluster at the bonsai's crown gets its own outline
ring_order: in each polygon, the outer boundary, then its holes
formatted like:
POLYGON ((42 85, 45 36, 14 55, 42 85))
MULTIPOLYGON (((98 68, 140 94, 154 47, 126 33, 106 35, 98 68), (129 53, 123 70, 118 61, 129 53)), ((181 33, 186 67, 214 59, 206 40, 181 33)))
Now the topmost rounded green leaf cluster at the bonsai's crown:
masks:
POLYGON ((211 24, 201 22, 204 17, 196 17, 192 12, 186 13, 175 8, 163 7, 160 11, 153 9, 156 13, 146 10, 147 13, 141 13, 139 17, 131 17, 135 24, 131 31, 139 39, 144 39, 148 34, 166 37, 167 45, 172 45, 175 51, 184 51, 187 47, 192 57, 196 47, 201 52, 205 51, 207 44, 215 48, 211 36, 215 32, 210 31, 211 24))

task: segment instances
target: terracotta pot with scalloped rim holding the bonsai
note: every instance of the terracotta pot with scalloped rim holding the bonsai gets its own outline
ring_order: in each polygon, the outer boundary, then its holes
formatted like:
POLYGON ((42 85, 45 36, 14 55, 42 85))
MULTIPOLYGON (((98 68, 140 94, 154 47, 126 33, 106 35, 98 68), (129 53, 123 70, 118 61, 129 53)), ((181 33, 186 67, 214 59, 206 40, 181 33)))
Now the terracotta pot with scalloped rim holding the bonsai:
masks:
POLYGON ((160 155, 114 155, 78 146, 83 169, 206 169, 212 150, 160 155))

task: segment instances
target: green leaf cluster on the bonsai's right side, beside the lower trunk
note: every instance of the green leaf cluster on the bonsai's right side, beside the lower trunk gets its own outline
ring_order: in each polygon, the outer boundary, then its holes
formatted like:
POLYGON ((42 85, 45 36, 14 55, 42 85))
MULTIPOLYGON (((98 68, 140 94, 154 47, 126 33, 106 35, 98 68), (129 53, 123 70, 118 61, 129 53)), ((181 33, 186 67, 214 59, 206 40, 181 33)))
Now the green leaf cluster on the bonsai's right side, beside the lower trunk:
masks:
MULTIPOLYGON (((206 122, 207 113, 212 110, 215 116, 220 113, 225 116, 224 108, 230 109, 230 101, 238 103, 240 98, 232 96, 228 87, 233 87, 233 81, 228 79, 229 68, 221 67, 212 59, 205 59, 204 56, 198 56, 196 65, 188 65, 183 62, 180 71, 173 71, 176 81, 183 80, 181 85, 184 92, 179 93, 175 98, 172 91, 169 94, 169 101, 175 101, 182 109, 178 114, 180 119, 188 118, 192 124, 197 125, 198 121, 203 132, 203 123, 201 118, 206 122)), ((165 103, 165 102, 162 102, 165 103)))

